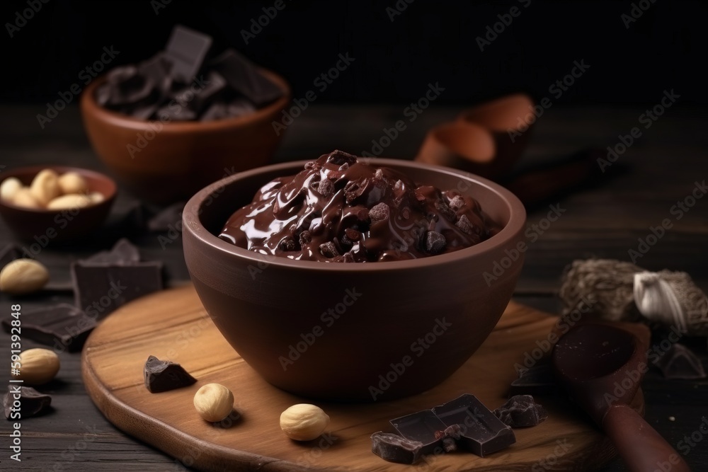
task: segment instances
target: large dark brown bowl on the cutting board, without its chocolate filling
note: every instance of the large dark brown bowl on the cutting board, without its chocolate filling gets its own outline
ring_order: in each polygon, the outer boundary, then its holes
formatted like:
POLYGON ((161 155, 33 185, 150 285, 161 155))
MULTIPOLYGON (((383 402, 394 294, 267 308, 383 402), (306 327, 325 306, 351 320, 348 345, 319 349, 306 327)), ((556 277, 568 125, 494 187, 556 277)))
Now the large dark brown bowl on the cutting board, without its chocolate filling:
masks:
POLYGON ((185 206, 185 261, 202 304, 244 360, 285 391, 369 402, 426 391, 474 353, 513 293, 526 215, 511 192, 449 168, 371 161, 473 195, 503 229, 471 248, 385 263, 266 257, 215 236, 258 188, 304 161, 224 178, 185 206))

